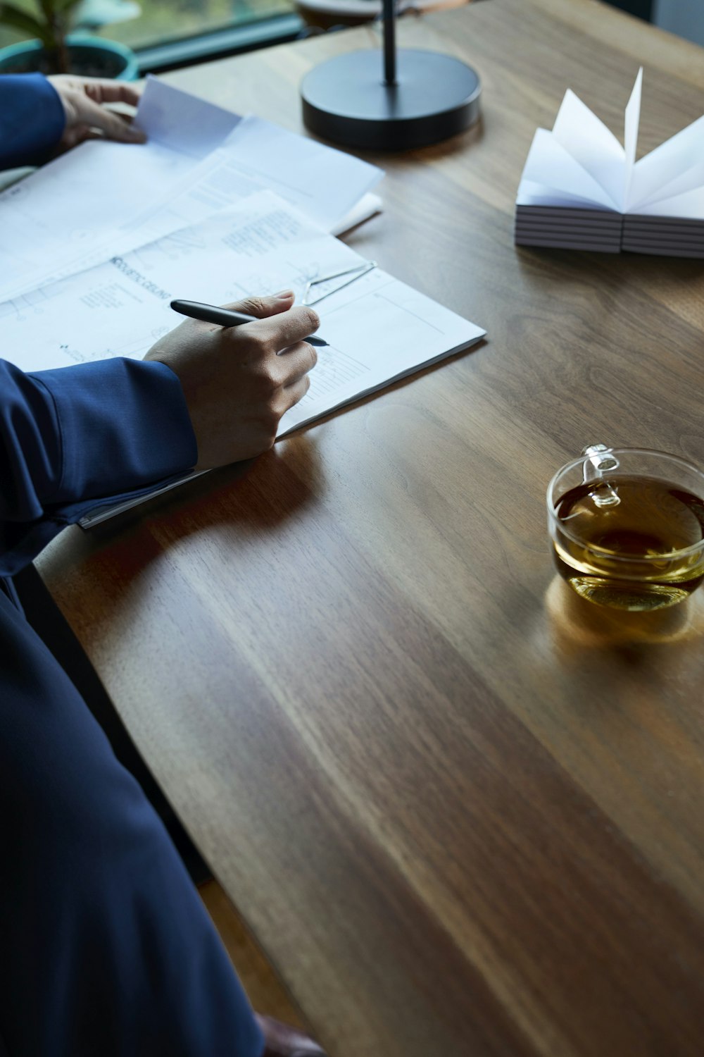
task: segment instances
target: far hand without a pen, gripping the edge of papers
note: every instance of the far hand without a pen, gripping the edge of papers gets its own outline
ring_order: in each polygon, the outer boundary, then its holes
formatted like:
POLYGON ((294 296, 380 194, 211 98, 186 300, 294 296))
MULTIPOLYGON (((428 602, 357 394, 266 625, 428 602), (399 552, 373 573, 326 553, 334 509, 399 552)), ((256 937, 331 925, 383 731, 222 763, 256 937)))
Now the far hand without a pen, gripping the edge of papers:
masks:
POLYGON ((56 74, 47 79, 56 89, 66 115, 59 151, 70 150, 84 140, 146 142, 145 133, 131 124, 127 114, 118 114, 104 106, 106 103, 127 103, 136 107, 139 90, 134 85, 99 77, 74 77, 71 74, 56 74))

